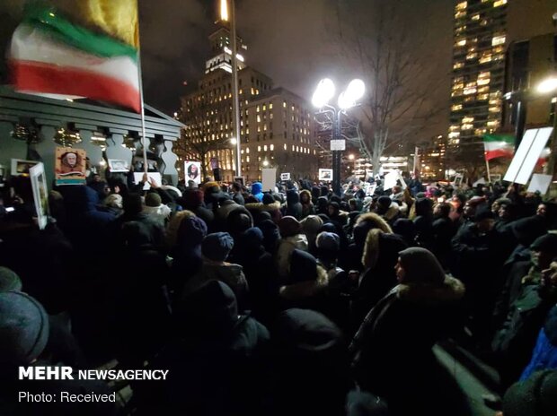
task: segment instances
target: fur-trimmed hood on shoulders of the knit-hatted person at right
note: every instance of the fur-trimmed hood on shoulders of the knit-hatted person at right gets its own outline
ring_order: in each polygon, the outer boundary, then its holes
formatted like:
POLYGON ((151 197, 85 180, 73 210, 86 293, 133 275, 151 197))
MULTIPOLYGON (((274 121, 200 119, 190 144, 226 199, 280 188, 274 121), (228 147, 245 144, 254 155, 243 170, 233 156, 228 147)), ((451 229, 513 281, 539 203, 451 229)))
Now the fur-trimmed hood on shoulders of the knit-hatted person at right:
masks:
POLYGON ((452 276, 446 276, 440 285, 399 284, 393 290, 399 299, 424 306, 449 304, 464 297, 464 283, 452 276))

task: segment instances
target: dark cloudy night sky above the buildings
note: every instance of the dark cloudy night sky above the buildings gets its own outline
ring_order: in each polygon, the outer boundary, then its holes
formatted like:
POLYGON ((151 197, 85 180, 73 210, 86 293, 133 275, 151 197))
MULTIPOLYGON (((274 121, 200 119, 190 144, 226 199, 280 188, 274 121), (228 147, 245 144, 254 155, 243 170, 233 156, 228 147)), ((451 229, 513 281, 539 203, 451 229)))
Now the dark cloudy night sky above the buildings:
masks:
MULTIPOLYGON (((367 17, 373 20, 377 4, 390 2, 401 4, 402 26, 423 51, 420 58, 429 76, 440 80, 433 100, 448 108, 451 0, 236 0, 238 34, 248 45, 247 64, 270 75, 275 86, 309 100, 325 75, 339 84, 359 76, 358 65, 340 53, 340 26, 350 27, 355 19, 364 26, 367 17)), ((3 48, 21 3, 0 2, 3 48)), ((180 107, 180 96, 203 74, 210 55, 207 38, 216 29, 217 0, 139 0, 139 5, 145 99, 172 114, 180 107), (190 86, 184 87, 183 81, 190 86)), ((438 116, 440 133, 446 130, 447 114, 438 116)))

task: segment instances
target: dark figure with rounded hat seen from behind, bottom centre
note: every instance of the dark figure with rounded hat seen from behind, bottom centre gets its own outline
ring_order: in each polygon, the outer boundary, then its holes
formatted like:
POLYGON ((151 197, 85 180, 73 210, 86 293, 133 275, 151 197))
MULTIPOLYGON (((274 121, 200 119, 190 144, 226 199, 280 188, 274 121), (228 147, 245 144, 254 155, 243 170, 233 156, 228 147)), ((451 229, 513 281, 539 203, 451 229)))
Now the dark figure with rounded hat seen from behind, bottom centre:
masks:
POLYGON ((287 309, 271 328, 269 416, 344 416, 352 383, 346 341, 337 325, 309 309, 287 309))

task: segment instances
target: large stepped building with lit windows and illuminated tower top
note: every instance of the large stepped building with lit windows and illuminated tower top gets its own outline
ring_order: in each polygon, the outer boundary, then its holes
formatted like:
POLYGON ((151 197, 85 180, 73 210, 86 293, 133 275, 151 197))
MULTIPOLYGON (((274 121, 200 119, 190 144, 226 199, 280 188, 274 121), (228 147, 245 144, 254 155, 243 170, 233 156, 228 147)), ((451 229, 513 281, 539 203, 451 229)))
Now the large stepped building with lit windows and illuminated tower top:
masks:
MULTIPOLYGON (((208 145, 206 164, 218 160, 222 178, 234 178, 235 146, 232 110, 232 56, 230 32, 220 28, 209 36, 214 54, 206 62, 198 89, 181 99, 181 121, 186 125, 181 140, 208 145)), ((238 39, 238 50, 245 49, 238 39)), ((238 94, 243 177, 261 179, 261 169, 277 168, 291 178, 315 178, 314 114, 310 105, 283 88, 273 89, 269 76, 245 64, 238 57, 238 94)), ((187 147, 187 146, 186 146, 187 147)), ((183 159, 180 146, 176 150, 183 159)))

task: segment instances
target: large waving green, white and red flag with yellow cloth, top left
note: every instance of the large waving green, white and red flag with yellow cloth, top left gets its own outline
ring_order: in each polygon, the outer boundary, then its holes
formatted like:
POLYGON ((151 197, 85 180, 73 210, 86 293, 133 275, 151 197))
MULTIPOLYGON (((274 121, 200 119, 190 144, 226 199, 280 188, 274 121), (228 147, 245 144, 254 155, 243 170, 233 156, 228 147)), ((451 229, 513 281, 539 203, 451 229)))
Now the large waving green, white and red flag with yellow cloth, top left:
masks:
POLYGON ((137 0, 75 0, 62 9, 33 4, 13 33, 12 83, 22 92, 140 112, 137 47, 137 0))

